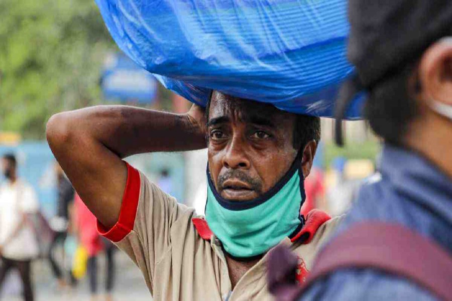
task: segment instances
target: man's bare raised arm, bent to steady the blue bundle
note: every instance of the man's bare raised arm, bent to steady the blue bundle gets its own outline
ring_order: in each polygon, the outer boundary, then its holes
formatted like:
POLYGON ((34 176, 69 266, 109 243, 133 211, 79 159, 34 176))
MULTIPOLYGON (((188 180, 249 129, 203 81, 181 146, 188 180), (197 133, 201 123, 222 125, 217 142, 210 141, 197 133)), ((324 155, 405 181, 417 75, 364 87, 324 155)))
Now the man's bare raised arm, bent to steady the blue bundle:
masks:
POLYGON ((81 199, 109 228, 118 221, 127 182, 122 159, 204 148, 203 118, 195 105, 186 114, 95 106, 52 116, 47 140, 81 199))

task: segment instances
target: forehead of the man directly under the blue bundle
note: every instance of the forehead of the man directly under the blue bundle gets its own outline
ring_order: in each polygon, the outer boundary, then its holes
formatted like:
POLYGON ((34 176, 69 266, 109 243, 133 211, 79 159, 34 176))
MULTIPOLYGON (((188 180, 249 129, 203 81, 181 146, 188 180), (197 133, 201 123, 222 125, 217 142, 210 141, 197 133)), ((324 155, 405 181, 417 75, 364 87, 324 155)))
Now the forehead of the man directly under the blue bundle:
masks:
POLYGON ((284 118, 288 113, 268 103, 257 102, 225 95, 219 92, 212 94, 209 107, 209 120, 227 117, 243 122, 269 122, 284 118))

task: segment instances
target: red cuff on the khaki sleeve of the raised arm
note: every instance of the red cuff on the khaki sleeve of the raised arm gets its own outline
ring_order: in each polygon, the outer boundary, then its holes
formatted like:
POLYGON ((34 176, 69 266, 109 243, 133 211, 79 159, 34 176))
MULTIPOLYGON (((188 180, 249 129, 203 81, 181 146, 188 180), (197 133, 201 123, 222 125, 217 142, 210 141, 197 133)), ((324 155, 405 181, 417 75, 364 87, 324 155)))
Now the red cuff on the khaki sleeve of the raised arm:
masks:
POLYGON ((135 217, 137 216, 141 188, 140 173, 127 162, 126 165, 127 183, 118 222, 111 229, 107 229, 97 220, 97 231, 112 242, 123 240, 134 229, 135 217))

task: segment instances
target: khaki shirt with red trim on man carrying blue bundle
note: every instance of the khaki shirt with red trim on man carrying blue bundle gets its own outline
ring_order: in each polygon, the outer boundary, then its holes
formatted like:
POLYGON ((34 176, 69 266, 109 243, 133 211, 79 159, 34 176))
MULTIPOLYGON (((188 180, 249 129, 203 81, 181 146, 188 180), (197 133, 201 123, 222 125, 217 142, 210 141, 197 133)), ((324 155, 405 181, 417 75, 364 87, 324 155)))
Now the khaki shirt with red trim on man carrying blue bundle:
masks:
MULTIPOLYGON (((266 281, 267 255, 231 291, 221 243, 213 235, 210 239, 201 237, 192 222, 196 217, 194 209, 178 204, 129 165, 128 169, 118 223, 109 230, 100 224, 98 228, 140 268, 155 301, 273 300, 266 281)), ((308 243, 306 240, 292 243, 288 238, 282 242, 290 244, 299 258, 297 277, 301 281, 311 268, 319 246, 339 222, 339 219, 327 222, 321 219, 322 216, 307 218, 303 229, 310 227, 313 232, 308 243)))

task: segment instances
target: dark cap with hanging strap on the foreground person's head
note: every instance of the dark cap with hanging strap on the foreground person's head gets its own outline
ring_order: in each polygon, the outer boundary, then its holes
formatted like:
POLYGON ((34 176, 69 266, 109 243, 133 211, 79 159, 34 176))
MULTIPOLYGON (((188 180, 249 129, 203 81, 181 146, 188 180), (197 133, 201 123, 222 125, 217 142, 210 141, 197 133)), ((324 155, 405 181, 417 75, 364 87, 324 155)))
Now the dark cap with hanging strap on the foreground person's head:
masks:
POLYGON ((338 119, 352 93, 378 85, 452 34, 452 0, 349 0, 349 20, 348 57, 356 76, 337 101, 338 119))

